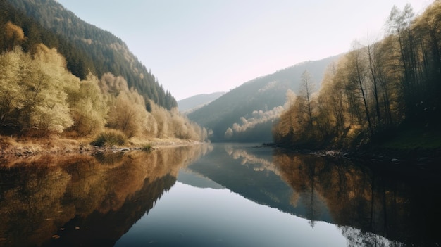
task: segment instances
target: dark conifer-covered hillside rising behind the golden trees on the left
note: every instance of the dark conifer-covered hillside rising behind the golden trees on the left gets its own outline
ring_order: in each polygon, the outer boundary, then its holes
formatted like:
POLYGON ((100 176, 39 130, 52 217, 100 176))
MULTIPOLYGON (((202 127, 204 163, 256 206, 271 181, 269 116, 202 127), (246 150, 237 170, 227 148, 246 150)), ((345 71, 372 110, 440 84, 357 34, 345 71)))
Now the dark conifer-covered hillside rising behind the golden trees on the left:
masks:
POLYGON ((124 77, 128 86, 137 89, 145 99, 151 99, 168 110, 177 106, 170 92, 165 91, 154 75, 129 51, 127 45, 110 32, 85 23, 54 0, 0 2, 4 11, 2 15, 5 15, 1 18, 11 19, 16 25, 23 26, 29 44, 43 42, 49 48, 56 48, 66 57, 68 69, 80 79, 85 79, 89 70, 98 77, 111 72, 115 76, 124 77), (44 29, 58 34, 58 39, 50 38, 46 42, 40 40, 42 37, 48 39, 47 31, 42 31, 29 18, 23 19, 19 11, 37 20, 44 29), (71 49, 72 46, 75 49, 71 49))

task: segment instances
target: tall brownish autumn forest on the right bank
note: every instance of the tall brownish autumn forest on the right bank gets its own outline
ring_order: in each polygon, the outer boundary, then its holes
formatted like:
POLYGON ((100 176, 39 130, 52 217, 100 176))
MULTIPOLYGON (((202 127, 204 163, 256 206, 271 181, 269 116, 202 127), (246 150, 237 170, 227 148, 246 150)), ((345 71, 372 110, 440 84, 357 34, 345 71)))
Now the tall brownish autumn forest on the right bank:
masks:
POLYGON ((304 71, 273 129, 277 144, 350 148, 406 134, 439 140, 441 1, 417 16, 409 4, 394 6, 385 28, 383 39, 354 41, 331 63, 318 93, 304 71))

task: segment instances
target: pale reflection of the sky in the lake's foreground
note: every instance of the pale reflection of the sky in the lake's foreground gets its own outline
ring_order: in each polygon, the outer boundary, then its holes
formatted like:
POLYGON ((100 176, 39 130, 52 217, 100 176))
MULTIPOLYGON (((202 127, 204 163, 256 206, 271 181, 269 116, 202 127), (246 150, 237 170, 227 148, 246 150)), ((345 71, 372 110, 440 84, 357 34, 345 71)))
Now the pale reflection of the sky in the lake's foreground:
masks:
POLYGON ((116 246, 346 246, 333 224, 177 182, 116 246))

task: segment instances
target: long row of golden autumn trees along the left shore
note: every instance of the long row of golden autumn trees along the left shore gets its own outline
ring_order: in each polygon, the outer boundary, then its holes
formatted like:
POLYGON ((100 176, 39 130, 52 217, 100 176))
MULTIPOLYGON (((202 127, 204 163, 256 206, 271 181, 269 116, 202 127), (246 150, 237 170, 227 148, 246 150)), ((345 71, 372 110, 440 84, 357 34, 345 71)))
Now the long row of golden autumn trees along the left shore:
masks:
POLYGON ((25 52, 23 29, 11 22, 2 28, 7 47, 0 55, 1 134, 77 138, 113 131, 126 138, 206 139, 206 130, 177 108, 144 99, 123 77, 89 72, 82 80, 55 48, 39 43, 25 52))

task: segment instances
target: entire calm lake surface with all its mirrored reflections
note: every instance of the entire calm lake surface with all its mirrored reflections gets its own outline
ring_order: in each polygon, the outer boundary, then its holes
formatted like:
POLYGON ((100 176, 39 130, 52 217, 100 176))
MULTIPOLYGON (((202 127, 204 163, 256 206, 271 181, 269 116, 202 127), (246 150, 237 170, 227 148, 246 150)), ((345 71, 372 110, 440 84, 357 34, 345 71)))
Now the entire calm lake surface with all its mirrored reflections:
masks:
POLYGON ((0 246, 437 246, 441 184, 252 144, 1 160, 0 246))

